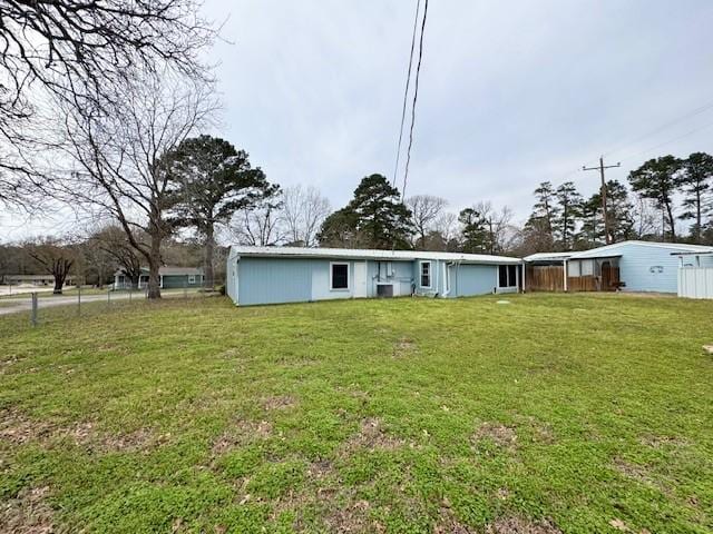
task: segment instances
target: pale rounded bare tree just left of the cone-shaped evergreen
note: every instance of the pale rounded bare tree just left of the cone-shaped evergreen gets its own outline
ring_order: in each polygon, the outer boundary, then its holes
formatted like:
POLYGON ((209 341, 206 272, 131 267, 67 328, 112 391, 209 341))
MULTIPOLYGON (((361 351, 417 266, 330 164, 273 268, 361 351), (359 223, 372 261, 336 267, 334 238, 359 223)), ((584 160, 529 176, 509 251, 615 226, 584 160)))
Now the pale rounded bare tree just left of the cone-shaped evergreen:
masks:
POLYGON ((282 192, 282 221, 291 245, 313 247, 322 222, 332 211, 330 201, 313 186, 287 187, 282 192))

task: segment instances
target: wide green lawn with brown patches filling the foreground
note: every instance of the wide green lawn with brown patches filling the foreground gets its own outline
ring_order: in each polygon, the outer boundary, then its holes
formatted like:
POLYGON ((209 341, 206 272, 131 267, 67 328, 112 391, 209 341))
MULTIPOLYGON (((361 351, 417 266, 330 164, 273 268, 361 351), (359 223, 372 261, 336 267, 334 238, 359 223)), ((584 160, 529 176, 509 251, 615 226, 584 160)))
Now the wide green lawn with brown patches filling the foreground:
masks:
POLYGON ((713 301, 497 300, 0 318, 0 532, 711 532, 713 301))

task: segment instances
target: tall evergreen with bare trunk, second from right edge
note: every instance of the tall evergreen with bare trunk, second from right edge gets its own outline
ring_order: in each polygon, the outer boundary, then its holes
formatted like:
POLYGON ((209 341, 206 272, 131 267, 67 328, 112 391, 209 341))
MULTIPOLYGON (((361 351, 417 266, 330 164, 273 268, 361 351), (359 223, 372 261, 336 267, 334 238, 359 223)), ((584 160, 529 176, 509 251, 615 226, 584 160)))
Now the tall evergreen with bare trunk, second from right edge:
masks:
MULTIPOLYGON (((661 209, 663 220, 668 225, 668 235, 672 241, 676 240, 676 225, 673 216, 673 195, 677 191, 681 180, 678 171, 682 161, 673 156, 664 156, 649 159, 628 176, 632 189, 644 198, 656 202, 661 209)), ((665 239, 665 229, 662 229, 665 239)))

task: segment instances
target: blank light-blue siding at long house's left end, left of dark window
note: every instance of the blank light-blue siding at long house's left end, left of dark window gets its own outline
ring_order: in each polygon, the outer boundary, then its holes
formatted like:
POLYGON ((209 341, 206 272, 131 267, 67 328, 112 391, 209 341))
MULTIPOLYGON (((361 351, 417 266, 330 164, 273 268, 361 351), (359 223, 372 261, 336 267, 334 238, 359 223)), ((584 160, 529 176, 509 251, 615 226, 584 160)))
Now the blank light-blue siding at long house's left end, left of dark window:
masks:
POLYGON ((312 299, 311 259, 243 257, 237 264, 241 305, 301 303, 312 299))

